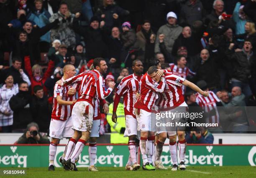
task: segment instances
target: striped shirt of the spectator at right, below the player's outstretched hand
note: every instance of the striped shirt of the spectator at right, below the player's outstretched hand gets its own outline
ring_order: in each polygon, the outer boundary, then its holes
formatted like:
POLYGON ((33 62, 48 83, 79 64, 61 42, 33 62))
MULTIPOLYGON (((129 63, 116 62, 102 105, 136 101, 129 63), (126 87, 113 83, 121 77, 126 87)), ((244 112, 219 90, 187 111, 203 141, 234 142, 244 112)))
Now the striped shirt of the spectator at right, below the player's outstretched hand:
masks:
POLYGON ((220 102, 220 99, 213 93, 209 91, 209 96, 205 97, 200 93, 196 94, 196 102, 197 104, 202 107, 206 112, 210 112, 213 108, 216 110, 216 114, 211 116, 210 118, 206 118, 208 123, 220 123, 220 116, 218 113, 216 103, 220 102))

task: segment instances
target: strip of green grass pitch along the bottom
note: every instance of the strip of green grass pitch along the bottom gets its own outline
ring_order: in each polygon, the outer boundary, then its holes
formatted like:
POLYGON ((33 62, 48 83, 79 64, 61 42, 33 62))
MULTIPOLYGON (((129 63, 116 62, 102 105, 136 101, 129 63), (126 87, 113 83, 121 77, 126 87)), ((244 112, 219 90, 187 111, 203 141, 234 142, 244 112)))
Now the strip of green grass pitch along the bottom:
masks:
MULTIPOLYGON (((20 170, 24 168, 0 168, 0 177, 3 176, 3 170, 20 170)), ((25 168, 26 175, 22 177, 31 178, 197 178, 197 177, 256 177, 256 167, 252 166, 188 166, 187 170, 171 171, 168 170, 136 170, 127 171, 124 168, 98 167, 98 172, 89 172, 87 168, 78 168, 79 171, 64 171, 63 168, 55 168, 55 171, 48 171, 48 168, 25 168)), ((21 175, 19 175, 20 177, 21 175)), ((8 177, 17 177, 9 175, 8 177)))

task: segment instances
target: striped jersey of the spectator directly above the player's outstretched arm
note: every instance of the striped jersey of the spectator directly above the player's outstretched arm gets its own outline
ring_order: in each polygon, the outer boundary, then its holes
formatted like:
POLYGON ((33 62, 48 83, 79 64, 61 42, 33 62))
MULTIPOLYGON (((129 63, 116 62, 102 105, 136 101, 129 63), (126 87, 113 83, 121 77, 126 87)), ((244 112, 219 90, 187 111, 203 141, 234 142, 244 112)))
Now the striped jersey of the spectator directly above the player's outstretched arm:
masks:
MULTIPOLYGON (((171 68, 172 73, 174 75, 178 75, 179 77, 182 77, 185 80, 187 79, 188 75, 195 76, 195 74, 196 74, 196 73, 192 72, 192 70, 190 70, 188 67, 179 68, 174 63, 170 63, 169 65, 170 65, 170 68, 171 68)), ((182 93, 183 93, 183 95, 184 95, 185 91, 186 91, 186 86, 182 85, 182 93)))

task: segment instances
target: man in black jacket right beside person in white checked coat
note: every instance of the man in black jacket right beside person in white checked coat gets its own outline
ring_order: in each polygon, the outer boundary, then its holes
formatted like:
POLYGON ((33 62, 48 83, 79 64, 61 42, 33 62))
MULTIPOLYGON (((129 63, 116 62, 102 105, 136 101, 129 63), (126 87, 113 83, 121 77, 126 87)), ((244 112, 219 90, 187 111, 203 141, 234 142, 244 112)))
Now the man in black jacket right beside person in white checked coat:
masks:
POLYGON ((13 110, 13 132, 23 132, 26 125, 33 120, 28 83, 22 82, 19 84, 19 92, 10 98, 9 104, 11 110, 13 110))

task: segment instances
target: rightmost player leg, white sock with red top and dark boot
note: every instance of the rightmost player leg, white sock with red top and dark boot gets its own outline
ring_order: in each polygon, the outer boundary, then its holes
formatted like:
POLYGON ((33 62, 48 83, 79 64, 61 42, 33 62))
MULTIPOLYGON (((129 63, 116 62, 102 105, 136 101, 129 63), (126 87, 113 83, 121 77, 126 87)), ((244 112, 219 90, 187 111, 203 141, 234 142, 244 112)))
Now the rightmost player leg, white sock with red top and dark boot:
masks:
POLYGON ((185 132, 184 131, 177 131, 178 139, 179 139, 179 169, 185 170, 185 154, 186 154, 186 148, 187 148, 187 142, 185 140, 185 132))

